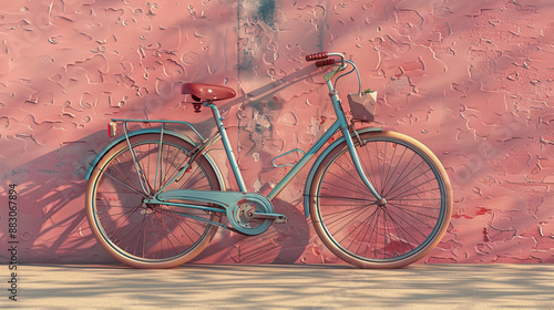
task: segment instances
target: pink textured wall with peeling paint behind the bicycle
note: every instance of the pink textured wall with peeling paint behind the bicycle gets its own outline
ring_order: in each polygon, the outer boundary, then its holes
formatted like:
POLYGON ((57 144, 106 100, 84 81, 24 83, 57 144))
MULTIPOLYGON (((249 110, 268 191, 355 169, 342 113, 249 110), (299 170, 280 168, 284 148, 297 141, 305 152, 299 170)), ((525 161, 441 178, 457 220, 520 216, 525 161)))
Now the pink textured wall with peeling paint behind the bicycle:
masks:
MULTIPOLYGON (((425 261, 554 262, 553 14, 540 0, 2 1, 0 239, 17 183, 22 262, 114 262, 86 224, 84 172, 111 117, 208 132, 183 81, 238 91, 226 122, 248 189, 267 193, 286 172, 271 158, 330 123, 321 78, 302 70, 327 50, 379 91, 377 120, 430 146, 451 177, 452 224, 425 261)), ((196 261, 337 262, 304 218, 306 173, 276 203, 289 223, 255 238, 220 230, 196 261)))

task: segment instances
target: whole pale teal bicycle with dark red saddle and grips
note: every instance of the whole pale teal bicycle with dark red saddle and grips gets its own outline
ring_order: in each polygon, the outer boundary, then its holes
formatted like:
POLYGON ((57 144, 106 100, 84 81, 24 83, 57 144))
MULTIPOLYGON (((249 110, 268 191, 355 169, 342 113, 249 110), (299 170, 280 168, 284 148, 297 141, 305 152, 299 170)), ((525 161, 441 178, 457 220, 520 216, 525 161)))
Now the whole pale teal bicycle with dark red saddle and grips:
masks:
POLYGON ((267 196, 246 190, 215 104, 234 97, 233 89, 182 85, 182 93, 194 100, 195 112, 211 108, 217 131, 208 138, 184 121, 113 118, 110 136, 117 124, 124 134, 98 154, 85 175, 86 215, 100 245, 135 268, 171 268, 196 257, 220 227, 247 236, 263 234, 274 223, 287 220, 271 200, 322 149, 304 190, 306 218, 311 218, 321 241, 360 268, 401 268, 425 256, 447 231, 452 213, 452 189, 441 163, 407 135, 375 125, 355 128, 358 118, 372 121, 375 95, 361 91, 352 61, 341 53, 310 54, 306 60, 330 68, 325 81, 336 121, 308 152, 290 151, 301 152, 301 158, 267 196), (349 124, 336 86, 352 72, 359 90, 348 95, 349 103, 352 113, 361 106, 366 114, 357 112, 349 124), (161 126, 130 131, 129 124, 137 122, 161 126), (168 124, 192 133, 170 130, 168 124), (337 133, 339 137, 324 148, 337 133), (226 190, 209 154, 219 140, 236 192, 226 190), (222 223, 224 216, 229 225, 222 223))

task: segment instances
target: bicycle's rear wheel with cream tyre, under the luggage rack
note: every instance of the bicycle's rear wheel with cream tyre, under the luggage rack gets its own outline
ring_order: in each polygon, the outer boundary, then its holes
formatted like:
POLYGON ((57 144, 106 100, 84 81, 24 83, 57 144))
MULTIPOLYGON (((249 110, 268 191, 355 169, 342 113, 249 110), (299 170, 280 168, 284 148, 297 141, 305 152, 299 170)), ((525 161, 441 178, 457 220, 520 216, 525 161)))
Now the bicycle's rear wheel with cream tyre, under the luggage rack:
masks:
MULTIPOLYGON (((171 268, 208 245, 220 213, 144 203, 188 162, 192 148, 168 134, 163 142, 160 134, 141 134, 116 144, 101 158, 86 189, 86 216, 94 237, 111 256, 135 268, 171 268)), ((223 189, 204 156, 167 189, 177 188, 223 189)))

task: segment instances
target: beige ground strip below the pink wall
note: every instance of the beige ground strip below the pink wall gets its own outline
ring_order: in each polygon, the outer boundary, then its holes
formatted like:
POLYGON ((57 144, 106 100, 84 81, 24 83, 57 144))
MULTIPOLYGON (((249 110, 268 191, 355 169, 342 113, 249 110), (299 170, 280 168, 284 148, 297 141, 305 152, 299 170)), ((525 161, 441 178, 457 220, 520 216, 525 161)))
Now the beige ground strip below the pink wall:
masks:
POLYGON ((554 309, 554 265, 19 266, 17 302, 2 283, 0 309, 554 309))

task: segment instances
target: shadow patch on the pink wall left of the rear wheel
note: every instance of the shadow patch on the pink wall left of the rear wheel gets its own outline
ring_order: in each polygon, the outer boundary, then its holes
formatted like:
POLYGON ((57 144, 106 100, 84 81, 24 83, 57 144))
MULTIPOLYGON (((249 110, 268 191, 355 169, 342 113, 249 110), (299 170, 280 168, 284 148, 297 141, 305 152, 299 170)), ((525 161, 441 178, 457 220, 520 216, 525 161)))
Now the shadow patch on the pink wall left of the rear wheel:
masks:
MULTIPOLYGON (((94 136, 100 134, 85 140, 94 136)), ((24 148, 34 147, 28 144, 24 148)), ((8 184, 17 184, 17 238, 19 259, 24 264, 95 261, 83 256, 94 241, 83 207, 86 183, 82 180, 80 156, 88 146, 84 141, 62 144, 61 148, 3 170, 2 192, 8 192, 8 184)), ((2 237, 8 238, 7 234, 2 237)))

